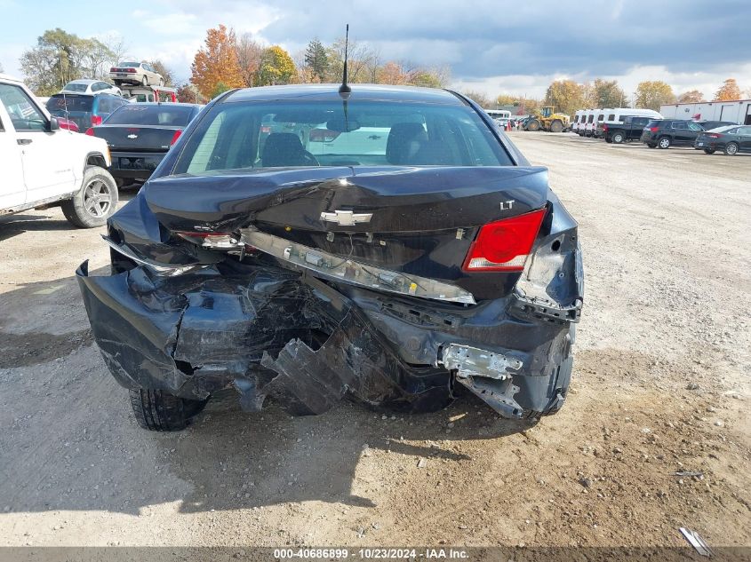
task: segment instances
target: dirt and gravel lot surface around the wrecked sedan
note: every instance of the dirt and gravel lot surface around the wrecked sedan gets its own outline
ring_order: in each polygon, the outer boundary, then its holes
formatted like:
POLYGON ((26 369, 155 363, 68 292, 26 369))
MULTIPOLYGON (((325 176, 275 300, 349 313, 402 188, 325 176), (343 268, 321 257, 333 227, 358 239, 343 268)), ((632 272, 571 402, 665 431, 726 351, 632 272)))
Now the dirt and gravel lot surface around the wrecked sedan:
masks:
POLYGON ((0 218, 0 545, 751 545, 751 155, 512 136, 585 252, 571 396, 536 425, 219 400, 142 431, 74 276, 100 232, 0 218))

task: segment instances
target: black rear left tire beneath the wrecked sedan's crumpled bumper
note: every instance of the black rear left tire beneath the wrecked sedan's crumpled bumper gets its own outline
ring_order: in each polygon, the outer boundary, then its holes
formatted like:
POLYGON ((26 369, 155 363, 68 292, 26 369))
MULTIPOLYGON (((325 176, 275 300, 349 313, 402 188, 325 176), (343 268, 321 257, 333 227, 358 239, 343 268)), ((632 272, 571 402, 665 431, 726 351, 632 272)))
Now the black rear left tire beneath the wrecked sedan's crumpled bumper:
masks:
POLYGON ((136 422, 149 431, 180 431, 201 413, 206 400, 188 400, 164 391, 139 389, 131 392, 136 422))

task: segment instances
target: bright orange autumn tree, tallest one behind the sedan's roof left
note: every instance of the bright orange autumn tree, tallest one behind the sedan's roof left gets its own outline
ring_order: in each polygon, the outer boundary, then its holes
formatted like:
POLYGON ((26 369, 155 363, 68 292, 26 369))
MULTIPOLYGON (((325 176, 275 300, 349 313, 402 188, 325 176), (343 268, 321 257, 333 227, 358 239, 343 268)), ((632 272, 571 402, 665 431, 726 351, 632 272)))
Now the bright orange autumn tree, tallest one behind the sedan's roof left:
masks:
POLYGON ((235 32, 223 25, 207 30, 205 46, 196 52, 191 69, 190 82, 207 98, 219 83, 228 89, 242 88, 245 83, 237 61, 235 32))

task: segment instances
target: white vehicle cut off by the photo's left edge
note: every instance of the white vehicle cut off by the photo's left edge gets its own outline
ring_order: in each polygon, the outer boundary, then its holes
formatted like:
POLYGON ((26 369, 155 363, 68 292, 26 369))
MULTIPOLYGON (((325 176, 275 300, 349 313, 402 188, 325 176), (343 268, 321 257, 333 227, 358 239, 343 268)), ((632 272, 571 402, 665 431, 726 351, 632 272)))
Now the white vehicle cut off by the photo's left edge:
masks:
POLYGON ((0 74, 0 215, 59 204, 75 226, 107 222, 117 186, 107 143, 60 129, 20 82, 0 74))

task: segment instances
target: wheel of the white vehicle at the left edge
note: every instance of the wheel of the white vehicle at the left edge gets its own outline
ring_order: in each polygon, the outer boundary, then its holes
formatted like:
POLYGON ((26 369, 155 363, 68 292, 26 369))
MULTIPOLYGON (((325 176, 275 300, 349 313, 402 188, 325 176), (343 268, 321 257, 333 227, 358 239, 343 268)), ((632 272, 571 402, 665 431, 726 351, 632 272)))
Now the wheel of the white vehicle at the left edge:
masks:
POLYGON ((62 214, 74 226, 94 228, 103 226, 117 207, 117 186, 109 172, 99 166, 89 166, 84 182, 72 199, 62 202, 62 214))

